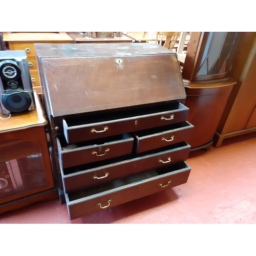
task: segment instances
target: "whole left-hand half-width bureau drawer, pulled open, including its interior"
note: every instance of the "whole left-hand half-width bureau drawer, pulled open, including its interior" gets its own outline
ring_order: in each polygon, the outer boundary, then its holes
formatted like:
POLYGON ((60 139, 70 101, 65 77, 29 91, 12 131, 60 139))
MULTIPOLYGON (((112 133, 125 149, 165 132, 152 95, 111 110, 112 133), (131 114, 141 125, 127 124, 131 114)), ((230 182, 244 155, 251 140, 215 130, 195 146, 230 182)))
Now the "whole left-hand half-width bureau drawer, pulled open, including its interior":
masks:
POLYGON ((60 162, 63 168, 102 161, 132 153, 134 139, 130 134, 67 144, 65 138, 57 138, 60 162))

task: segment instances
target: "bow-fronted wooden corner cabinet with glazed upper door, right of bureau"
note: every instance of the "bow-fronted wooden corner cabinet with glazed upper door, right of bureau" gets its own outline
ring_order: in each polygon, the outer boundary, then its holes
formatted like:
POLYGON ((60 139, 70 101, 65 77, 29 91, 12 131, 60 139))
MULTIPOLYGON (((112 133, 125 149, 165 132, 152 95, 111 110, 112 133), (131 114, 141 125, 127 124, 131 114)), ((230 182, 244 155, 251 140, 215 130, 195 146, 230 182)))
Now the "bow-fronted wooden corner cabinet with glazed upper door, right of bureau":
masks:
POLYGON ((191 32, 182 77, 188 121, 194 126, 191 148, 210 147, 236 80, 227 79, 238 32, 191 32))

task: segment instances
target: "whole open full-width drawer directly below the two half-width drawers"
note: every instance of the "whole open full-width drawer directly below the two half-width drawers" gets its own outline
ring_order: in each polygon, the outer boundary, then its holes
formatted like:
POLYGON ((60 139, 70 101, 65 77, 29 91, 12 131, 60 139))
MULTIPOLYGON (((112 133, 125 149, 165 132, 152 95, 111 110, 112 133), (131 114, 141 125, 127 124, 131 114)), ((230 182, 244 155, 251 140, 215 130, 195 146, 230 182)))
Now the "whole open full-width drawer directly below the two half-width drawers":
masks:
MULTIPOLYGON (((185 142, 164 147, 160 150, 112 158, 105 161, 61 168, 66 193, 89 186, 97 186, 111 180, 142 173, 149 169, 160 168, 187 159, 190 145, 185 142)), ((61 164, 60 164, 61 167, 61 164)))

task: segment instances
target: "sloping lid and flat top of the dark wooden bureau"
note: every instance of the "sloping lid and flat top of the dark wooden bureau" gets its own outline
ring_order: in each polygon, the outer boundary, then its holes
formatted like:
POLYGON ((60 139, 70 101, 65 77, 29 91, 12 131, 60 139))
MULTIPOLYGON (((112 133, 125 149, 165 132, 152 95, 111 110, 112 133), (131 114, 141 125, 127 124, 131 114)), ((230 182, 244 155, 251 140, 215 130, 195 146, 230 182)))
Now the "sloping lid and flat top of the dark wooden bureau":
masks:
POLYGON ((176 54, 157 44, 35 44, 53 117, 186 97, 176 54))

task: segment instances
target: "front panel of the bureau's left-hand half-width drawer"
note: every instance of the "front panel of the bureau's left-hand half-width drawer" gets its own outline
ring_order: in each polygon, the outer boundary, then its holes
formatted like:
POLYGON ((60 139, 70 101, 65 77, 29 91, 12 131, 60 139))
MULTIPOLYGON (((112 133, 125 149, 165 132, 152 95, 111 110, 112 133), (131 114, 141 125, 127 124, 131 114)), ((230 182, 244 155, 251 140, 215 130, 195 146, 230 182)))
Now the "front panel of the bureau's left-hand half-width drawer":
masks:
POLYGON ((62 150, 57 138, 59 157, 63 168, 76 165, 102 161, 109 158, 128 155, 132 153, 134 139, 130 138, 111 141, 100 145, 91 145, 62 150))

